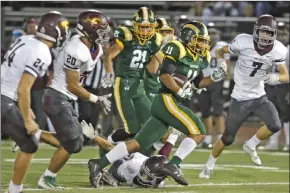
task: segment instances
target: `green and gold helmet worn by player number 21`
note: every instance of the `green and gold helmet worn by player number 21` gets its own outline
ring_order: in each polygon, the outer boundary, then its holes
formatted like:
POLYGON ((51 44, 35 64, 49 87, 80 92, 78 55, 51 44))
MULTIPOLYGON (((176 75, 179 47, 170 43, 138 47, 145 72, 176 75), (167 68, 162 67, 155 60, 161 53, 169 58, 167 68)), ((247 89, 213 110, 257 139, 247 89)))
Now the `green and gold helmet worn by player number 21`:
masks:
POLYGON ((156 20, 153 11, 147 7, 139 8, 133 18, 133 29, 141 45, 155 33, 156 20))

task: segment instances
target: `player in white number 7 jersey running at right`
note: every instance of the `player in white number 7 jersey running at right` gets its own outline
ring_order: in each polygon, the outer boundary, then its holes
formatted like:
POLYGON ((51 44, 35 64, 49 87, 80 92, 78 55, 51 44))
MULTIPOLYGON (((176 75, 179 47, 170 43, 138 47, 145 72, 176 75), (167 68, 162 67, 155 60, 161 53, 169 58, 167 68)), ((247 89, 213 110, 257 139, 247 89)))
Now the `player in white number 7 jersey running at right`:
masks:
POLYGON ((225 53, 237 53, 238 61, 234 71, 235 87, 226 121, 225 132, 221 140, 214 145, 211 155, 199 174, 200 178, 209 178, 217 158, 225 146, 234 142, 241 124, 250 113, 254 113, 265 125, 243 145, 243 150, 256 165, 262 165, 256 152, 261 140, 267 139, 281 128, 278 112, 270 102, 264 90, 264 83, 287 82, 289 74, 285 65, 287 48, 276 40, 277 21, 271 15, 262 15, 254 25, 253 35, 240 34, 229 46, 218 49, 218 62, 225 53), (276 65, 279 73, 267 74, 267 70, 276 65))

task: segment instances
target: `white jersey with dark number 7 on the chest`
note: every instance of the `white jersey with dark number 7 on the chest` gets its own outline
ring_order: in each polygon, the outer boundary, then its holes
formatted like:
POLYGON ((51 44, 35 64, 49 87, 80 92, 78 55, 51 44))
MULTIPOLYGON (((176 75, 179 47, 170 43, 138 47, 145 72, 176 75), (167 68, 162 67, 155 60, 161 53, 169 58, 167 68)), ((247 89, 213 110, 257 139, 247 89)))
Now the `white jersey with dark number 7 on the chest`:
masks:
POLYGON ((240 34, 229 45, 231 53, 238 54, 234 70, 235 86, 232 97, 249 100, 265 95, 263 77, 273 65, 285 64, 287 48, 275 40, 272 50, 260 55, 254 47, 252 35, 240 34))

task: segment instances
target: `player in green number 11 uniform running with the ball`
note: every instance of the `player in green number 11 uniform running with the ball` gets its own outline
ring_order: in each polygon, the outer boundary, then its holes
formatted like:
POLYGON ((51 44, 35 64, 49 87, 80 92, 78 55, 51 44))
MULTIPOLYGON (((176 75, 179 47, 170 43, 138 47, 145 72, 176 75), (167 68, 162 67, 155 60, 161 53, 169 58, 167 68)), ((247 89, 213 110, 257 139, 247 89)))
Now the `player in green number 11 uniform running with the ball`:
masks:
POLYGON ((227 65, 224 59, 218 61, 211 76, 202 76, 201 71, 210 62, 209 41, 207 27, 199 21, 192 21, 182 27, 180 41, 171 41, 163 47, 165 56, 160 70, 162 87, 153 101, 150 119, 133 140, 119 143, 99 160, 89 160, 92 186, 98 183, 102 168, 129 153, 146 150, 167 132, 168 126, 187 136, 170 160, 172 165, 179 165, 204 139, 206 130, 203 123, 189 108, 182 105, 182 101, 191 98, 196 87, 208 86, 225 77, 227 65), (173 76, 187 80, 180 87, 173 76))

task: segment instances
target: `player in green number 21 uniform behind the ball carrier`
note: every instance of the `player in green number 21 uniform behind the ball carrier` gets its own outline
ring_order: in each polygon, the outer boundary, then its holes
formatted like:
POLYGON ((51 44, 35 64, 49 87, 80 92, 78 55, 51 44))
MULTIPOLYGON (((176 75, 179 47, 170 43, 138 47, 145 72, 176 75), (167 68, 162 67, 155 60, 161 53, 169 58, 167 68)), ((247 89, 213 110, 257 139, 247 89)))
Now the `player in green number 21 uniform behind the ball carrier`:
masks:
MULTIPOLYGON (((150 117, 151 101, 144 92, 144 69, 156 74, 159 63, 152 62, 153 55, 160 53, 162 36, 155 33, 155 15, 147 7, 139 8, 133 18, 133 28, 119 27, 115 30, 116 43, 104 57, 106 76, 104 88, 114 84, 117 109, 124 123, 108 137, 111 143, 134 137, 150 117), (115 73, 112 60, 115 59, 115 73)), ((155 60, 154 60, 155 61, 155 60)))

